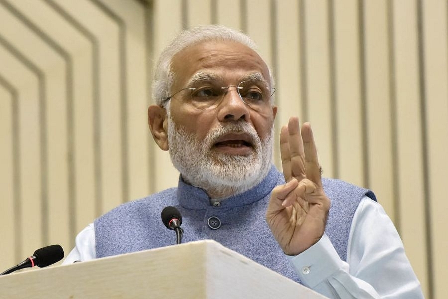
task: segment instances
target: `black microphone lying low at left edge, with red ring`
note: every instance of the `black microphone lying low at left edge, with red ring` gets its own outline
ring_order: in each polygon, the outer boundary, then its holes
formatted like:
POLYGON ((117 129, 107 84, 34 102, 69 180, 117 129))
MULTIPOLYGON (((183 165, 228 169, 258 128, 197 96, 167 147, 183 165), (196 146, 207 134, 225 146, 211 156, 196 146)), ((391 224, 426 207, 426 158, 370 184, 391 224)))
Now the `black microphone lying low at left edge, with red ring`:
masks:
POLYGON ((45 246, 36 250, 32 256, 26 258, 20 264, 17 264, 14 267, 11 267, 8 270, 0 273, 0 275, 9 274, 16 270, 20 270, 23 268, 30 268, 34 266, 40 268, 47 267, 56 262, 59 262, 60 260, 62 260, 63 257, 64 257, 64 250, 62 249, 61 245, 45 246))

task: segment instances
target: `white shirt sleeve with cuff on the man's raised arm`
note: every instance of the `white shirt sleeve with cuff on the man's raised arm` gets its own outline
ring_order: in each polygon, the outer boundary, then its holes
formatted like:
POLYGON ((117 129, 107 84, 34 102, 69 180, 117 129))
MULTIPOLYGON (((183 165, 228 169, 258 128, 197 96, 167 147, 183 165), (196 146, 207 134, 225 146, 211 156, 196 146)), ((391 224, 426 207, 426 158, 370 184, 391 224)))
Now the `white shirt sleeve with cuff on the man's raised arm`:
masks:
POLYGON ((353 217, 347 262, 325 234, 290 260, 304 285, 329 298, 424 298, 397 230, 381 205, 368 197, 353 217))

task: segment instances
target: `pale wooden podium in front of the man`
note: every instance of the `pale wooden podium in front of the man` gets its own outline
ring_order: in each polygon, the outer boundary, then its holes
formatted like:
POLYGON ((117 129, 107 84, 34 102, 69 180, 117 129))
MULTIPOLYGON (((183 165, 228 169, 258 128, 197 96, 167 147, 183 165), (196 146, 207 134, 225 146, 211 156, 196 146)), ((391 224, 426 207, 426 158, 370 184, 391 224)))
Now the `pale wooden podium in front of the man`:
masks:
POLYGON ((0 298, 326 298, 211 241, 0 276, 0 298))

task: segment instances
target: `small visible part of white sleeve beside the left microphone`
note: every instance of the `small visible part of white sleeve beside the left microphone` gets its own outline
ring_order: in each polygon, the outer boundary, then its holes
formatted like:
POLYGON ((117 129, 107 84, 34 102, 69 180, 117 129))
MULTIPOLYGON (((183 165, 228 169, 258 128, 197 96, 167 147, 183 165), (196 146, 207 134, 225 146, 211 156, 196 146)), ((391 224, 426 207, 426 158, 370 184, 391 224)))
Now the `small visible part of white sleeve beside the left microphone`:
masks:
POLYGON ((96 259, 95 246, 95 226, 91 223, 76 236, 75 248, 65 258, 62 265, 96 259))

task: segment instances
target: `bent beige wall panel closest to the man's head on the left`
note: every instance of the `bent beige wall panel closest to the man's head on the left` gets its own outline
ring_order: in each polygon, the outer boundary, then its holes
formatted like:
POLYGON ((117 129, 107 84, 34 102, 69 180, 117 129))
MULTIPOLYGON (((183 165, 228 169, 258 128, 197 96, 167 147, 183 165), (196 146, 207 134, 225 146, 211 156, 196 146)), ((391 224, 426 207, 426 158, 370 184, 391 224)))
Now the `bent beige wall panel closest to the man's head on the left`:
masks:
MULTIPOLYGON (((121 0, 103 1, 125 23, 126 69, 120 70, 126 78, 127 159, 129 194, 124 200, 133 200, 148 194, 149 173, 147 169, 150 135, 147 117, 147 89, 151 78, 146 73, 145 7, 137 1, 129 1, 124 7, 121 0)), ((148 28, 149 29, 149 28, 148 28)))

